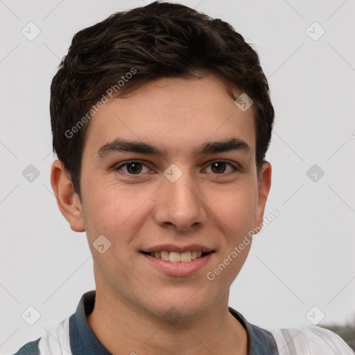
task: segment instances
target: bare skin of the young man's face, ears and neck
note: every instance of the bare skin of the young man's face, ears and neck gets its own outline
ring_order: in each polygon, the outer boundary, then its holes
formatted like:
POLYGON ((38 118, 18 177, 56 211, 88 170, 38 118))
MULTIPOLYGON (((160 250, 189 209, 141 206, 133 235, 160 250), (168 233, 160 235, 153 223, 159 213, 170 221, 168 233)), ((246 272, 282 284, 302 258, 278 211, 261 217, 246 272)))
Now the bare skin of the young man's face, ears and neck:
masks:
POLYGON ((253 111, 242 112, 218 78, 162 78, 105 104, 85 137, 82 202, 58 160, 51 184, 71 229, 86 231, 96 281, 87 320, 109 352, 247 354, 245 329, 227 306, 251 243, 213 281, 206 275, 263 222, 271 166, 264 163, 257 175, 253 111), (251 153, 191 153, 206 141, 231 137, 243 139, 251 153), (116 138, 148 142, 168 155, 117 152, 98 159, 98 149, 116 138), (140 175, 128 166, 113 169, 130 159, 144 164, 140 175), (216 173, 211 163, 220 159, 241 170, 227 164, 216 173), (182 171, 176 182, 164 176, 171 164, 182 171), (101 235, 112 243, 103 254, 93 246, 101 235), (168 276, 140 253, 162 243, 200 243, 214 254, 193 275, 168 276))

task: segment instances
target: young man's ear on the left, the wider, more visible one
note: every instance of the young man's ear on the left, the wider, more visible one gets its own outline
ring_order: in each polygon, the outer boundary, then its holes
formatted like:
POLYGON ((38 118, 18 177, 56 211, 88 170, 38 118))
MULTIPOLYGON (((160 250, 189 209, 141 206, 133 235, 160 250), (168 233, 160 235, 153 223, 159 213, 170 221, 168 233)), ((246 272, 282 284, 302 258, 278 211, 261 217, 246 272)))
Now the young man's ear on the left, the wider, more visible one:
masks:
POLYGON ((69 174, 60 160, 55 160, 51 168, 51 185, 62 215, 74 232, 85 232, 83 210, 79 196, 74 192, 69 174))

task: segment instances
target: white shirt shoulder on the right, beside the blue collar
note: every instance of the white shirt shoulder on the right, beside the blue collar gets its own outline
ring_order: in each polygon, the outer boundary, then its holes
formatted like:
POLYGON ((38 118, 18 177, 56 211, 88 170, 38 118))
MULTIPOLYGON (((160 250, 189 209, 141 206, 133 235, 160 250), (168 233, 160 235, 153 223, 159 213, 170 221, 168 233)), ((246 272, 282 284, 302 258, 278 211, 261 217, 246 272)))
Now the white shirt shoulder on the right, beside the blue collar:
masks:
POLYGON ((269 330, 280 355, 355 355, 345 341, 333 331, 315 325, 301 329, 269 330))

